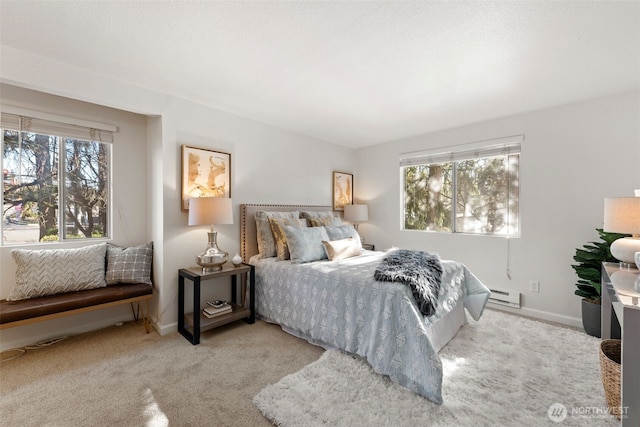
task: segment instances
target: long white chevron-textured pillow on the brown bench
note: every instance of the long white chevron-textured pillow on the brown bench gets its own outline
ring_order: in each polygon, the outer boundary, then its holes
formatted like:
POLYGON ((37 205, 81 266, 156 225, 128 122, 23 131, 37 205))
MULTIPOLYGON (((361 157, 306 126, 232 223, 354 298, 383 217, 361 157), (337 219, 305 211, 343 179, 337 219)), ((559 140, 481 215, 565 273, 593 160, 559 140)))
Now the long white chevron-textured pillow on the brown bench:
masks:
POLYGON ((103 288, 107 244, 76 249, 14 249, 16 286, 7 300, 103 288))

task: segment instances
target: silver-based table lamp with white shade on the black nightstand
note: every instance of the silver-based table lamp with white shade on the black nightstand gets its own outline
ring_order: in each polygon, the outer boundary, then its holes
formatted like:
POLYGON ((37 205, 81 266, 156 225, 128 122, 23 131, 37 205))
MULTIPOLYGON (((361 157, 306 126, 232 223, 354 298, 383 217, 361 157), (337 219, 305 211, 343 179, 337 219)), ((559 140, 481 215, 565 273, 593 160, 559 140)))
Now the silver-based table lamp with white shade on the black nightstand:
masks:
POLYGON ((211 225, 207 248, 196 257, 204 273, 218 271, 229 260, 229 254, 218 247, 214 225, 233 224, 233 208, 228 197, 197 197, 189 199, 189 225, 211 225))

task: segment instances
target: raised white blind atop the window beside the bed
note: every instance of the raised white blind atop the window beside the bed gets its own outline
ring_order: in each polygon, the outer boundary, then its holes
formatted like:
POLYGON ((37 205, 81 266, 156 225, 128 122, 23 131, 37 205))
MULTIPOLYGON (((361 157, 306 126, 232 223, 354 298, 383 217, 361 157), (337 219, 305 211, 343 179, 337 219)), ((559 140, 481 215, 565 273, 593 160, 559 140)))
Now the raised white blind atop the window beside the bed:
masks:
POLYGON ((523 135, 400 154, 400 166, 441 164, 520 153, 523 135))

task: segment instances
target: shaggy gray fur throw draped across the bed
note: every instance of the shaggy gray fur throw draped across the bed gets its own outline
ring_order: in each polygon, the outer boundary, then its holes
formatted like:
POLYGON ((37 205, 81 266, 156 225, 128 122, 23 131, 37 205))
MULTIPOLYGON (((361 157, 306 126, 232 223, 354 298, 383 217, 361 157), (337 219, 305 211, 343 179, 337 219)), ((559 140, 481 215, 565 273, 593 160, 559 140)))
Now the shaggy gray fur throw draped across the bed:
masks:
POLYGON ((442 281, 442 264, 437 255, 397 249, 382 259, 373 276, 384 282, 404 283, 411 288, 422 314, 431 316, 436 312, 442 281))

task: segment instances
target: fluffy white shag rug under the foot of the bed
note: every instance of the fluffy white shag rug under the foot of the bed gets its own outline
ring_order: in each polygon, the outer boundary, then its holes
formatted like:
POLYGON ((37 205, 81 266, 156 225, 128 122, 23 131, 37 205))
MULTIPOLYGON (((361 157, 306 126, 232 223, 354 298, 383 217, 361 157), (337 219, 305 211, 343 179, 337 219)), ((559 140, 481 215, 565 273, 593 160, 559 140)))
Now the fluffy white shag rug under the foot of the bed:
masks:
POLYGON ((326 351, 253 402, 278 426, 614 426, 600 376, 600 340, 486 310, 441 351, 444 403, 326 351))

